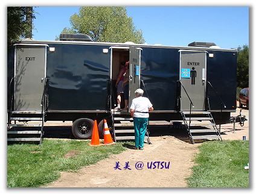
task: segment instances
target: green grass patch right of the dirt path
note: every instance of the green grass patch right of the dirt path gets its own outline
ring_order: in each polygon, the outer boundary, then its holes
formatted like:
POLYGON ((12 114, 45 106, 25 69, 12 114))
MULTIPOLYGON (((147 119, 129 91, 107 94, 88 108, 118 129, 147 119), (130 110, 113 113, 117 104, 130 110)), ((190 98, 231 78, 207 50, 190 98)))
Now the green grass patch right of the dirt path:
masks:
POLYGON ((189 187, 249 187, 248 141, 211 141, 199 146, 189 187))

